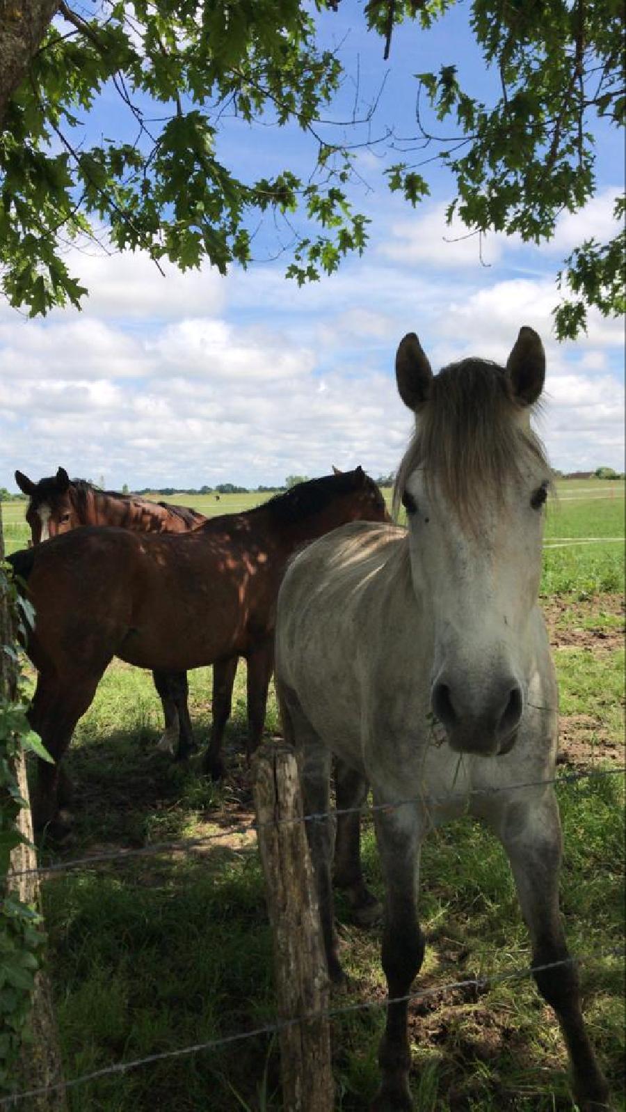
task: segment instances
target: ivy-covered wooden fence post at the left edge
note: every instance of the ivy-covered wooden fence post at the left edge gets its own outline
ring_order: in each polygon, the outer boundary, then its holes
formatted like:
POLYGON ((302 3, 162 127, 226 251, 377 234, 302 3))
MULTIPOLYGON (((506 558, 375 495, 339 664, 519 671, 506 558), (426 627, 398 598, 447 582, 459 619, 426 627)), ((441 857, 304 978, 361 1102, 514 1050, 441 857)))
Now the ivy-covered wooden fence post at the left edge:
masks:
MULTIPOLYGON (((4 537, 2 534, 2 509, 0 506, 0 560, 4 558, 4 537)), ((14 631, 7 598, 0 592, 0 645, 14 644, 14 631)), ((6 653, 0 653, 0 691, 10 699, 17 693, 17 669, 6 653)), ((20 751, 16 759, 16 775, 20 795, 29 801, 28 780, 24 755, 20 751)), ((32 818, 30 803, 18 814, 17 825, 20 834, 28 840, 29 845, 18 845, 11 853, 11 864, 7 877, 7 888, 14 892, 22 903, 40 910, 41 894, 39 876, 30 873, 28 876, 11 875, 23 870, 37 868, 37 854, 32 844, 32 818)), ((32 1041, 24 1043, 19 1065, 18 1089, 40 1089, 59 1084, 62 1081, 61 1053, 59 1034, 52 1005, 52 991, 48 974, 39 970, 34 977, 32 993, 32 1010, 30 1014, 30 1032, 32 1041)), ((63 1088, 40 1096, 30 1096, 28 1101, 16 1101, 9 1104, 16 1112, 28 1108, 29 1112, 67 1112, 65 1090, 63 1088)))

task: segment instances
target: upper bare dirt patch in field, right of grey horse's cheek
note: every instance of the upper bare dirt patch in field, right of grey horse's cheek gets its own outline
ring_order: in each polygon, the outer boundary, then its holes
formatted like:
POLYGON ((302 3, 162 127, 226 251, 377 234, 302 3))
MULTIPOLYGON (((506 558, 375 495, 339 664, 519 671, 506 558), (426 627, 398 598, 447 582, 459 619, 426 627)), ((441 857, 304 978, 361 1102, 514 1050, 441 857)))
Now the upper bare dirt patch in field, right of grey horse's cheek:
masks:
POLYGON ((600 595, 577 603, 553 596, 549 599, 542 599, 542 609, 553 648, 624 647, 623 595, 600 595))

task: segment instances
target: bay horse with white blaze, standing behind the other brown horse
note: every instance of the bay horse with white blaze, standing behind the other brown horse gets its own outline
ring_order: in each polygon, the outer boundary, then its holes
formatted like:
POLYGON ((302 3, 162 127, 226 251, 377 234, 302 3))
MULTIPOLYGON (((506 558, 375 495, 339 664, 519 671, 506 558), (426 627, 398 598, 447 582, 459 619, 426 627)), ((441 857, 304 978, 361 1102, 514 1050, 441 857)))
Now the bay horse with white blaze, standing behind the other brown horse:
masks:
MULTIPOLYGON (((100 490, 87 479, 70 479, 64 467, 37 483, 17 470, 16 483, 29 498, 26 519, 33 545, 85 525, 114 525, 138 533, 186 533, 206 520, 204 514, 189 506, 100 490)), ((178 744, 182 757, 194 747, 186 673, 153 672, 152 678, 165 719, 156 748, 173 753, 178 744)))

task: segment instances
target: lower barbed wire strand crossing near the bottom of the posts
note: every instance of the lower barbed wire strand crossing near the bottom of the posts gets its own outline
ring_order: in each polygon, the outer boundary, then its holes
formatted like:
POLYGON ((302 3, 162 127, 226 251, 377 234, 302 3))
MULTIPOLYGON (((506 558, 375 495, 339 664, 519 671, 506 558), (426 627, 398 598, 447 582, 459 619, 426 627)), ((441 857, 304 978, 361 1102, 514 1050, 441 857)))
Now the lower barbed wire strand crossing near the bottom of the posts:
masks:
POLYGON ((387 1000, 386 997, 377 997, 375 1000, 359 1001, 353 1004, 342 1004, 339 1007, 307 1012, 305 1015, 294 1016, 289 1020, 276 1020, 274 1023, 265 1024, 261 1027, 254 1027, 252 1031, 239 1031, 235 1034, 224 1035, 221 1039, 209 1039, 206 1042, 191 1043, 190 1045, 181 1046, 178 1050, 168 1050, 161 1051, 156 1054, 147 1054, 145 1058, 132 1059, 129 1062, 113 1062, 112 1065, 102 1066, 101 1070, 93 1070, 91 1073, 84 1073, 79 1078, 71 1078, 69 1081, 59 1081, 52 1085, 42 1085, 38 1089, 29 1089, 19 1093, 12 1093, 10 1096, 0 1099, 0 1108, 11 1109, 19 1102, 30 1096, 42 1096, 44 1093, 75 1089, 78 1085, 84 1085, 89 1081, 98 1081, 101 1078, 128 1073, 130 1070, 137 1070, 139 1066, 150 1065, 153 1062, 163 1062, 168 1059, 184 1058, 190 1054, 196 1054, 201 1051, 215 1050, 218 1046, 226 1046, 232 1043, 243 1042, 246 1039, 256 1039, 259 1035, 276 1034, 280 1031, 296 1026, 301 1023, 311 1023, 315 1020, 324 1017, 335 1019, 349 1012, 364 1011, 371 1007, 384 1007, 387 1004, 413 1003, 418 1000, 425 1000, 428 996, 438 996, 442 993, 456 992, 460 989, 473 987, 477 991, 486 991, 492 985, 501 984, 505 981, 513 981, 515 979, 533 976, 537 973, 544 973, 547 970, 557 969, 561 965, 583 965, 615 956, 624 956, 624 950, 616 946, 600 953, 584 954, 580 957, 571 955, 568 957, 562 957, 556 962, 546 962, 543 965, 532 965, 523 969, 508 970, 505 973, 494 973, 487 976, 468 977, 465 981, 452 981, 447 984, 440 985, 438 987, 423 989, 421 992, 411 992, 404 996, 393 996, 391 1000, 387 1000))

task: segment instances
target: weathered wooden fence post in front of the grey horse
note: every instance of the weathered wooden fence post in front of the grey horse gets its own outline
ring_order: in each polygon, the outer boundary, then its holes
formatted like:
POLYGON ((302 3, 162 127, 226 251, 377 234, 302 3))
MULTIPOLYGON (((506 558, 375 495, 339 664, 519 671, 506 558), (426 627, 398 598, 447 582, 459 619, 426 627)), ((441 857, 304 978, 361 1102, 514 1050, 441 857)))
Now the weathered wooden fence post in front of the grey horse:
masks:
POLYGON ((295 754, 287 745, 265 744, 254 763, 279 1017, 301 1021, 280 1032, 283 1104, 285 1112, 332 1112, 330 1024, 320 1014, 329 1007, 329 979, 306 832, 297 822, 295 754))

